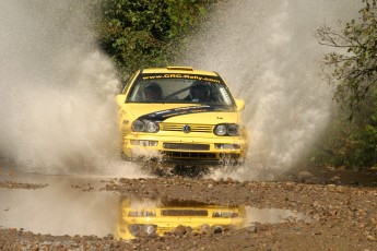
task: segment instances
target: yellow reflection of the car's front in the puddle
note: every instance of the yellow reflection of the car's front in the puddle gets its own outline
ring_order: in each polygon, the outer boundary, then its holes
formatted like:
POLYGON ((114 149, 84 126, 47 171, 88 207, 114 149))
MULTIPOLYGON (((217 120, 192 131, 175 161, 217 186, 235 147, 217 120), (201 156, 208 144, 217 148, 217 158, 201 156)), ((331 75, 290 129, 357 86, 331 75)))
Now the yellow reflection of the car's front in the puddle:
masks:
POLYGON ((190 201, 120 200, 117 239, 164 236, 179 226, 192 231, 222 231, 245 224, 245 206, 207 205, 190 201))

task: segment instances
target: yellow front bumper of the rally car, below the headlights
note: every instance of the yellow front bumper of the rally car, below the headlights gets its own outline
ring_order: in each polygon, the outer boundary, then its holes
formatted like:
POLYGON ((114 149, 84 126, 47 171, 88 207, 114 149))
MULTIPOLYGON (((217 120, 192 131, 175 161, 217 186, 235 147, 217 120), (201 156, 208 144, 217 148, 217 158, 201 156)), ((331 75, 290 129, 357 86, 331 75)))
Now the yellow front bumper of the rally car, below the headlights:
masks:
POLYGON ((123 138, 123 156, 130 160, 156 160, 187 165, 238 164, 245 159, 241 136, 161 136, 131 134, 123 138))

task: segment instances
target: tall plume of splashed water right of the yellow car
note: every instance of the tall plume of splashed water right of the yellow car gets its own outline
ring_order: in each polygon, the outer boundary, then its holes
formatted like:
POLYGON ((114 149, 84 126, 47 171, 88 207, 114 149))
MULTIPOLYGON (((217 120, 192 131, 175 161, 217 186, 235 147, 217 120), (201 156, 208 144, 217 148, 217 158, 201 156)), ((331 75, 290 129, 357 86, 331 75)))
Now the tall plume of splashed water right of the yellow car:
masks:
MULTIPOLYGON (((331 86, 319 76, 327 48, 316 29, 357 14, 347 0, 229 1, 179 63, 215 70, 246 100, 248 163, 237 179, 274 179, 299 163, 326 128, 331 86)), ((224 178, 215 174, 214 178, 224 178)), ((226 175, 227 176, 227 175, 226 175)))

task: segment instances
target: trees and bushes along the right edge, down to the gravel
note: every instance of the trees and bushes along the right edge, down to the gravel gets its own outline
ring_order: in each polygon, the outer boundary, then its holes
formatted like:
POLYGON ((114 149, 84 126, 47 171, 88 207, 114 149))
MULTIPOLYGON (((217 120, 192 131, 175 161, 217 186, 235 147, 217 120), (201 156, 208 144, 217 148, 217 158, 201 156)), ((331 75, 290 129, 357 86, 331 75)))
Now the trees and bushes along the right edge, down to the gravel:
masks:
POLYGON ((316 164, 353 169, 377 164, 377 0, 362 1, 360 19, 342 32, 318 29, 319 43, 338 50, 326 56, 325 65, 332 70, 334 99, 343 110, 321 141, 316 164))

